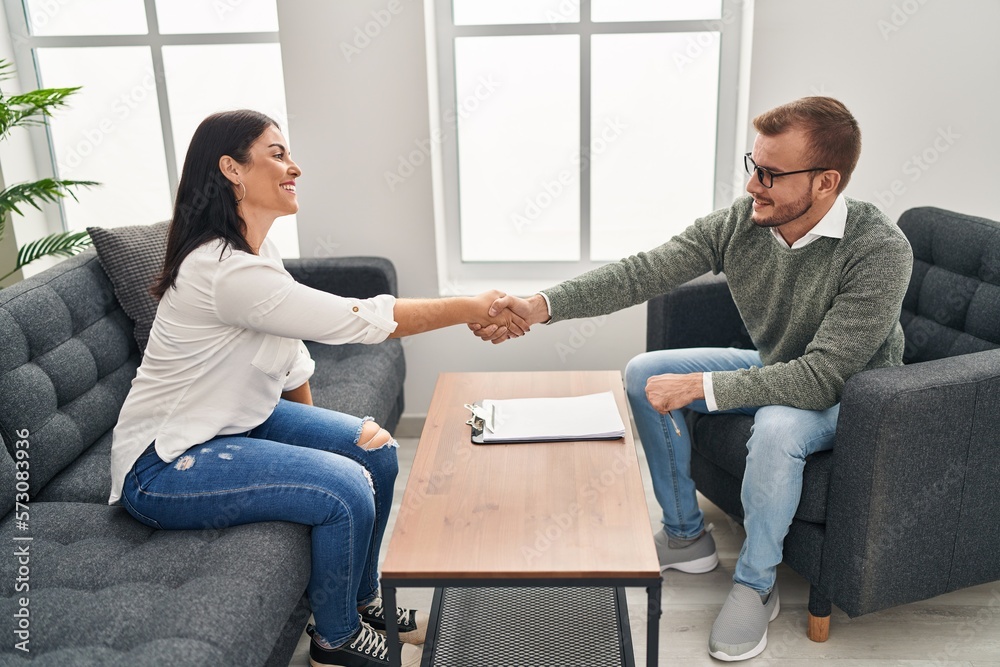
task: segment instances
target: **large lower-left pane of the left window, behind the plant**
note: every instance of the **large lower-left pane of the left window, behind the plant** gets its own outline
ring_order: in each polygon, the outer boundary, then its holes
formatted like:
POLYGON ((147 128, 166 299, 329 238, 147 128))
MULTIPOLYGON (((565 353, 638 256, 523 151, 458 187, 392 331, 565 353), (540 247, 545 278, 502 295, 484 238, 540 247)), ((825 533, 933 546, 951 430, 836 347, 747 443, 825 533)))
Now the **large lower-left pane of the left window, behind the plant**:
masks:
POLYGON ((171 201, 148 47, 38 49, 42 85, 83 86, 50 120, 60 178, 100 181, 66 198, 70 229, 166 220, 171 201), (114 72, 114 76, 108 76, 114 72))

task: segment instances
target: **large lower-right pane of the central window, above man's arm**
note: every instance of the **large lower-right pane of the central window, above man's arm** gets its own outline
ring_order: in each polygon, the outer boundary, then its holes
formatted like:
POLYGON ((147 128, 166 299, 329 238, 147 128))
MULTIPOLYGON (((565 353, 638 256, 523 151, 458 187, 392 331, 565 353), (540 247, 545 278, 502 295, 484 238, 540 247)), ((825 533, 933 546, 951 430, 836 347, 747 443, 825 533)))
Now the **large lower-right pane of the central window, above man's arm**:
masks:
POLYGON ((613 260, 712 210, 719 35, 595 35, 591 72, 591 259, 613 260))

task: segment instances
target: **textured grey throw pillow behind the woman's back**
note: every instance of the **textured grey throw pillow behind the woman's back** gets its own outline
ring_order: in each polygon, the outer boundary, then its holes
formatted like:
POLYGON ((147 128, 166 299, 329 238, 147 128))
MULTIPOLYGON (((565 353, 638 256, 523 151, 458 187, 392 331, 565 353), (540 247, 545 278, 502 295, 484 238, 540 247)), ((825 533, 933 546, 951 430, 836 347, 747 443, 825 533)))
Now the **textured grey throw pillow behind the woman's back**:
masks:
POLYGON ((139 353, 146 351, 149 330, 159 302, 149 293, 163 270, 169 221, 129 227, 87 227, 97 248, 97 259, 111 279, 122 310, 135 322, 139 353))

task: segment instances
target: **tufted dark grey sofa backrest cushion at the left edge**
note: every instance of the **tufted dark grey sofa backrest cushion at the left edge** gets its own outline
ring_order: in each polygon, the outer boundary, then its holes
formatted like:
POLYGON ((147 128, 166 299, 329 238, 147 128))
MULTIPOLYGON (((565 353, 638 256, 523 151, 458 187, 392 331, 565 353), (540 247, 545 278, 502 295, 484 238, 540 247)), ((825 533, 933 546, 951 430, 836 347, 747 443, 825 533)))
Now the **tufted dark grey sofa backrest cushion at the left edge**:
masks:
POLYGON ((0 340, 0 433, 28 431, 34 496, 117 422, 132 323, 87 250, 0 291, 0 340))

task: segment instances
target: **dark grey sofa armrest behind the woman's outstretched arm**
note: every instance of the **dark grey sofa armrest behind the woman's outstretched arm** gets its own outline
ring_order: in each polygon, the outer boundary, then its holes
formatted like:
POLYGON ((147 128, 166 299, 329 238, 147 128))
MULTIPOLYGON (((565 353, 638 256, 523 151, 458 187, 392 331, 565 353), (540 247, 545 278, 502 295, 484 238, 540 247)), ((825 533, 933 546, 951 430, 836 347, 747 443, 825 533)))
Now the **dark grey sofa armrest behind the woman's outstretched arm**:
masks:
POLYGON ((295 280, 338 296, 367 299, 398 295, 396 268, 384 257, 320 257, 282 260, 295 280))

